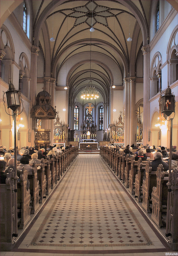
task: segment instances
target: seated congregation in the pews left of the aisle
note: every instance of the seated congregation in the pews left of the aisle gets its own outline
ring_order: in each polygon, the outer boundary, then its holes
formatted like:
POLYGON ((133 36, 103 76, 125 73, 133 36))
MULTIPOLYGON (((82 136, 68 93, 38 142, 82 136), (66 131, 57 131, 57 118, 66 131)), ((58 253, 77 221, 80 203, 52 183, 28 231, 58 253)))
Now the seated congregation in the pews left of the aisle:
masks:
MULTIPOLYGON (((41 163, 41 159, 47 159, 49 156, 50 159, 52 157, 56 157, 59 153, 64 152, 64 150, 71 148, 72 145, 66 147, 60 146, 57 147, 49 146, 48 148, 40 148, 32 146, 24 146, 22 149, 17 149, 17 175, 20 177, 21 171, 23 167, 27 170, 28 174, 31 174, 32 164, 35 162, 37 164, 41 163)), ((6 174, 9 169, 14 169, 14 149, 9 148, 6 149, 5 146, 0 146, 0 183, 5 184, 6 174)))

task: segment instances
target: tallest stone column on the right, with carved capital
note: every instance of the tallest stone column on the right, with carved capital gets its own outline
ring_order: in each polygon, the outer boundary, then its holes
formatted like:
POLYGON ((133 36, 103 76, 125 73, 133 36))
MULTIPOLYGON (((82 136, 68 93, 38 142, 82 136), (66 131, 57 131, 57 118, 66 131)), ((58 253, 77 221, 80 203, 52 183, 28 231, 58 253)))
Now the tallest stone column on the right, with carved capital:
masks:
POLYGON ((150 127, 150 103, 149 103, 149 70, 150 70, 150 46, 143 45, 143 145, 148 143, 148 131, 150 127))

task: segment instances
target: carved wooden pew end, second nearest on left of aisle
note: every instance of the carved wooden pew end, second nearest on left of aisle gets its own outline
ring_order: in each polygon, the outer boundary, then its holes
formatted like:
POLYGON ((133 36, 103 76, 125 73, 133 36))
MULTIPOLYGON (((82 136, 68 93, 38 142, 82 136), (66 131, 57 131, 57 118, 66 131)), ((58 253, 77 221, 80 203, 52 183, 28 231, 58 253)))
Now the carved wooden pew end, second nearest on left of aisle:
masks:
POLYGON ((27 171, 25 167, 22 168, 19 182, 17 184, 17 204, 19 208, 18 218, 20 218, 20 229, 23 229, 30 221, 30 190, 26 189, 27 171))

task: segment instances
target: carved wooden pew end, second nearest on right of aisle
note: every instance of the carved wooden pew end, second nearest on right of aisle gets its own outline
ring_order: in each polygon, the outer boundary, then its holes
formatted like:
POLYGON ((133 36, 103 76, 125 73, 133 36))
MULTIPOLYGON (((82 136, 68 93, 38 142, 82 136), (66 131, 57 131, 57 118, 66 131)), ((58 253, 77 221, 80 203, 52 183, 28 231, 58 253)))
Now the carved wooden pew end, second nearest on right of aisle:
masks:
MULTIPOLYGON (((162 215, 167 211, 167 195, 168 195, 168 172, 164 171, 163 165, 159 164, 156 171, 156 187, 152 192, 152 220, 158 227, 163 227, 162 215)), ((164 215, 165 215, 164 214, 164 215)))

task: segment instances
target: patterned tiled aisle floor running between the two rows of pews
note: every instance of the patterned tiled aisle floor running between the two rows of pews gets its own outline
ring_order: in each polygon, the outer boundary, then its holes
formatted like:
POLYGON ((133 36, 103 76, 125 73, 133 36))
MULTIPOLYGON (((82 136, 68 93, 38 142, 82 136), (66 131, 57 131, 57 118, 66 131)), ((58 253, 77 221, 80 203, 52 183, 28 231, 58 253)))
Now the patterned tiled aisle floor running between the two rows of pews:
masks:
POLYGON ((167 243, 96 154, 81 154, 24 233, 0 255, 164 256, 167 243))

